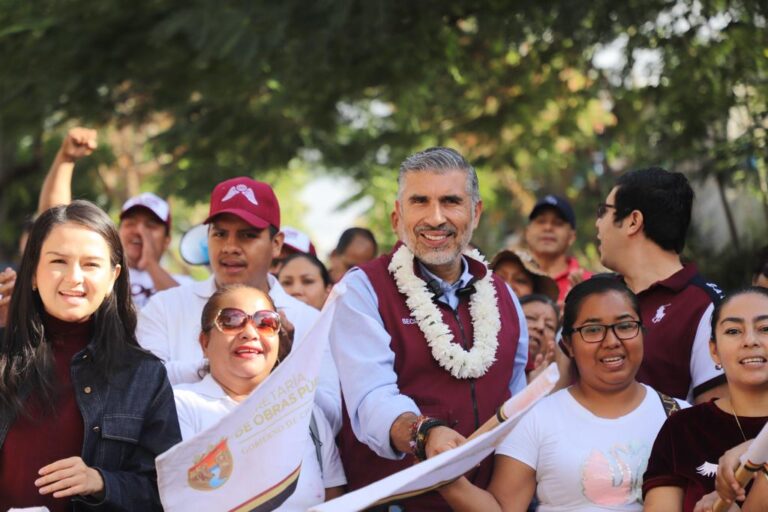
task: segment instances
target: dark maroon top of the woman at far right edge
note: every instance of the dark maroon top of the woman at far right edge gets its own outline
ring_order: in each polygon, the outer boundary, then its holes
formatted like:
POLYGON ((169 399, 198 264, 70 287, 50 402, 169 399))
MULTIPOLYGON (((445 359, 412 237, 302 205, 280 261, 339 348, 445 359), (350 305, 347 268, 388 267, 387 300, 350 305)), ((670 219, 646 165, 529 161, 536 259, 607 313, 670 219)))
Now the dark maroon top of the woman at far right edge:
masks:
MULTIPOLYGON (((757 436, 766 421, 768 417, 739 416, 747 439, 757 436)), ((720 456, 743 442, 736 419, 714 401, 673 414, 653 444, 643 477, 643 496, 654 487, 682 487, 683 512, 691 512, 702 496, 715 490, 720 456)))

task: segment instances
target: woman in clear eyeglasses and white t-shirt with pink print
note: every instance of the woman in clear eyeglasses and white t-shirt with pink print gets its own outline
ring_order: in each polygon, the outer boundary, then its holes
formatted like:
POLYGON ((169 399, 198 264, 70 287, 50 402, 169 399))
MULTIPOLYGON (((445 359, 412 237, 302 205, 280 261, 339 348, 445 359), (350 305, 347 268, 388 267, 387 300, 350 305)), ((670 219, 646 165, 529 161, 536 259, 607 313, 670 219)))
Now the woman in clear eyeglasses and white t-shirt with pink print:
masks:
MULTIPOLYGON (((565 299, 565 350, 577 380, 538 403, 496 449, 487 491, 466 478, 441 489, 455 510, 640 511, 640 485, 668 409, 635 380, 643 359, 637 297, 593 277, 565 299)), ((667 400, 667 397, 664 397, 667 400)))

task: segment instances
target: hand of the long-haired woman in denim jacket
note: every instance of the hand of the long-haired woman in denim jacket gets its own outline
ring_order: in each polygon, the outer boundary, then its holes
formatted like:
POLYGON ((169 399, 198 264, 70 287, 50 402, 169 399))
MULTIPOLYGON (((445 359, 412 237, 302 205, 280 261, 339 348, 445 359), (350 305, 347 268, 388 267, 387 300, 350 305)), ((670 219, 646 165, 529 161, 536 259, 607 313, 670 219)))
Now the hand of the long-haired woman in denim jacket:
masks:
POLYGON ((86 466, 80 457, 69 457, 48 464, 38 471, 40 478, 35 480, 40 494, 53 493, 54 498, 68 496, 101 495, 104 491, 104 479, 101 473, 86 466))

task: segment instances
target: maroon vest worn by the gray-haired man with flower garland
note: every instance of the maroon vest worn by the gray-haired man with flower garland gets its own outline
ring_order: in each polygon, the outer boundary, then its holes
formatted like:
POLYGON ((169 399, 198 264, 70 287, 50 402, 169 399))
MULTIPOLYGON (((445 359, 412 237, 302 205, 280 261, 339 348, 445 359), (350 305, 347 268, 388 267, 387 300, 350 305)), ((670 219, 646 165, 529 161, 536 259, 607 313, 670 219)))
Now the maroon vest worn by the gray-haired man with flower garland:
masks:
MULTIPOLYGON (((399 245, 395 246, 395 250, 399 245)), ((398 376, 400 393, 412 398, 422 414, 444 420, 460 434, 469 436, 509 398, 509 383, 520 337, 520 319, 515 304, 506 284, 494 275, 493 285, 496 288, 502 319, 496 362, 479 379, 457 379, 432 357, 432 351, 421 329, 411 318, 405 296, 397 290, 397 284, 387 270, 391 259, 391 254, 381 256, 360 268, 376 291, 379 314, 385 329, 392 337, 389 346, 395 354, 394 369, 398 376)), ((483 264, 469 258, 467 261, 469 271, 476 279, 485 276, 487 270, 483 264)), ((415 263, 414 271, 421 277, 415 263)), ((469 312, 470 297, 464 295, 460 298, 456 312, 442 302, 435 302, 440 308, 443 322, 454 335, 454 343, 462 344, 465 349, 471 348, 473 329, 469 312)), ((343 409, 344 423, 339 434, 339 450, 349 490, 381 480, 414 463, 410 455, 403 460, 383 459, 376 455, 368 446, 357 440, 352 432, 346 407, 343 409)), ((467 476, 473 483, 485 488, 490 482, 492 471, 493 457, 488 457, 467 476)), ((437 492, 398 501, 398 504, 405 506, 409 512, 450 510, 437 492)))

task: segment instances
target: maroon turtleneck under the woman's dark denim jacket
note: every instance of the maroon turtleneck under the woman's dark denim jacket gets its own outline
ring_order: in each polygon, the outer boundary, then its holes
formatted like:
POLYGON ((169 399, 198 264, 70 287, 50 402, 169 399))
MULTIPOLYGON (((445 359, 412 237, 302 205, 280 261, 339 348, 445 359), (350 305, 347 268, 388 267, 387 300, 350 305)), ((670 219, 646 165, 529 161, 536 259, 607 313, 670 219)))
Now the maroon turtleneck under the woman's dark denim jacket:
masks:
POLYGON ((45 332, 55 360, 56 412, 51 414, 36 397, 25 403, 27 414, 13 422, 0 446, 0 510, 10 507, 48 507, 52 512, 72 510, 69 498, 40 495, 35 480, 43 466, 83 449, 83 417, 77 407, 70 378, 72 357, 85 348, 91 322, 72 324, 45 319, 45 332))

